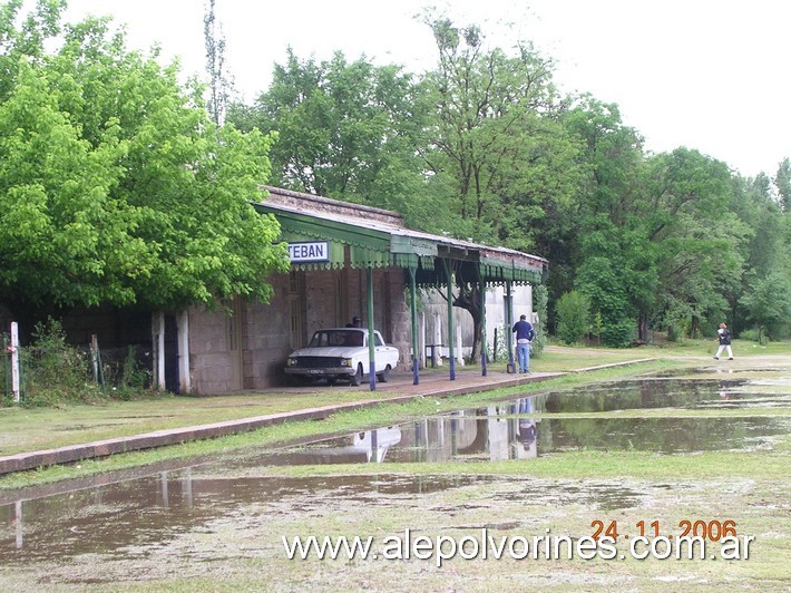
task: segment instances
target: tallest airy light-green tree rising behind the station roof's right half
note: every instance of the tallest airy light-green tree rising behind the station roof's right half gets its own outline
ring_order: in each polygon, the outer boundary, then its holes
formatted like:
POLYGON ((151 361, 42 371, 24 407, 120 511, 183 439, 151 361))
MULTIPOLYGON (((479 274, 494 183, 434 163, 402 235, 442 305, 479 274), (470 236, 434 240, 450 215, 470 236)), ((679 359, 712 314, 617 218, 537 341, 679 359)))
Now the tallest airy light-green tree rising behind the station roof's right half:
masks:
MULTIPOLYGON (((426 207, 429 231, 527 251, 537 222, 574 195, 577 146, 565 135, 551 85, 553 62, 529 43, 516 56, 488 48, 478 26, 426 18, 437 68, 426 77, 436 107, 426 207)), ((480 336, 476 279, 456 278, 453 305, 472 317, 472 358, 480 336)))

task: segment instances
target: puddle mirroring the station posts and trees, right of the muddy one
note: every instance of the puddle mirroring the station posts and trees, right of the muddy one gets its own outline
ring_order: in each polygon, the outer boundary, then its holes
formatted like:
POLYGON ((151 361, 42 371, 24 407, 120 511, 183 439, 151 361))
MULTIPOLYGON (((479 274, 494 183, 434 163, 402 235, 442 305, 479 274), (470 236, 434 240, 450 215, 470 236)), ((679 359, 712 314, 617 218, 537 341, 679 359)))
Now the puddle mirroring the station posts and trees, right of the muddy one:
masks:
POLYGON ((416 422, 328 439, 255 456, 248 463, 311 465, 531 459, 566 450, 647 450, 664 454, 754 449, 788 434, 787 417, 674 417, 673 409, 791 407, 788 395, 743 390, 746 379, 644 378, 556 391, 460 410, 416 422), (551 418, 554 414, 603 414, 667 409, 668 417, 551 418), (536 417, 540 414, 540 417, 536 417))

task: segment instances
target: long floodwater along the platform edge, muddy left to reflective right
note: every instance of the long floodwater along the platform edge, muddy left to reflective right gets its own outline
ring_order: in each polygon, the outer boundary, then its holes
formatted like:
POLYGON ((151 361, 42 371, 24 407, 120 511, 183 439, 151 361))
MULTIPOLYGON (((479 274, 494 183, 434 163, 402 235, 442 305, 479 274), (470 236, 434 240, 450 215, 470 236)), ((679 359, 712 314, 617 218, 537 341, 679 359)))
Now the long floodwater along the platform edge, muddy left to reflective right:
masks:
MULTIPOLYGON (((563 464, 564 453, 577 449, 681 455, 768 448, 773 439, 791 432, 791 417, 751 411, 791 408, 789 376, 779 377, 769 383, 736 377, 645 378, 597 386, 584 393, 516 398, 299 447, 251 451, 231 464, 183 467, 57 495, 26 490, 12 499, 7 493, 8 503, 0 505, 0 555, 8 565, 81 554, 129 558, 149 554, 179 534, 205 531, 212 521, 233 517, 250 505, 264 505, 267 514, 277 514, 311 511, 332 499, 398 504, 448 488, 494 485, 498 479, 390 475, 387 469, 373 477, 262 477, 265 468, 258 467, 267 465, 529 463, 541 456, 563 464), (635 417, 638 410, 647 411, 635 417), (696 414, 689 417, 692 411, 696 414), (246 472, 240 473, 241 467, 246 472)), ((563 495, 599 508, 623 508, 637 504, 645 493, 603 484, 587 489, 577 485, 563 495)))

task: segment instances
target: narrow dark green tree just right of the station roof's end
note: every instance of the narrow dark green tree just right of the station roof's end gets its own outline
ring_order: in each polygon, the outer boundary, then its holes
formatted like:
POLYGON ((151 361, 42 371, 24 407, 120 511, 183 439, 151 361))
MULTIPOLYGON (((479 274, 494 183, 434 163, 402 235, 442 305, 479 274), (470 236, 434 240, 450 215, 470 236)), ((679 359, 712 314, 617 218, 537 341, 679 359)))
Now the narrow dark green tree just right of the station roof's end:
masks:
POLYGON ((587 95, 565 124, 580 138, 587 166, 576 197, 577 239, 569 247, 574 284, 600 315, 603 342, 625 346, 634 338, 641 298, 657 284, 655 253, 634 213, 645 175, 642 138, 623 125, 617 106, 587 95))

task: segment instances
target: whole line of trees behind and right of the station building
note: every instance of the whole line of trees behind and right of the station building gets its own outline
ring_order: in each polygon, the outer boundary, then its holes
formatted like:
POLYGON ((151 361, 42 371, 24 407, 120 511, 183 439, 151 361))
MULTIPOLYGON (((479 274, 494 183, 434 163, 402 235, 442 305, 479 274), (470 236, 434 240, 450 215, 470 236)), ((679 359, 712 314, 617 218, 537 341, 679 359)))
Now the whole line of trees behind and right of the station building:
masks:
MULTIPOLYGON (((553 60, 424 16, 422 75, 289 50, 238 129, 276 134, 272 183, 401 212, 408 224, 545 256, 550 323, 567 293, 604 344, 726 320, 779 339, 791 317, 791 162, 744 178, 691 147, 648 154, 618 107, 561 95, 553 60)), ((771 130, 768 130, 771 134, 771 130)), ((479 298, 460 283, 457 303, 479 298)))

